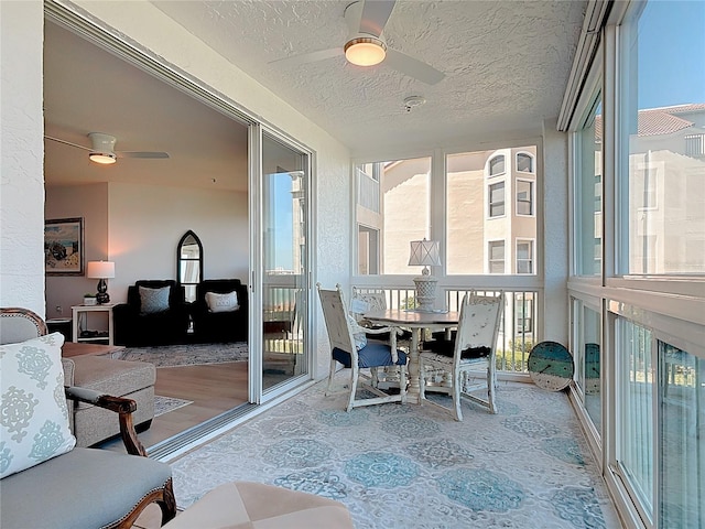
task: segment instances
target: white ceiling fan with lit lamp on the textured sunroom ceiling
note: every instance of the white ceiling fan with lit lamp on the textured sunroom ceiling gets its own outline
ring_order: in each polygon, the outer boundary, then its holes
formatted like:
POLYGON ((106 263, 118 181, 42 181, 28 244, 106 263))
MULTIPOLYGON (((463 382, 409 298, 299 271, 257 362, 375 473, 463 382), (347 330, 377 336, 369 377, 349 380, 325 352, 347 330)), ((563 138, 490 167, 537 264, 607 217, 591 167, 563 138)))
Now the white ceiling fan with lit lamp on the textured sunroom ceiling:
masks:
POLYGON ((395 0, 359 0, 345 8, 345 21, 349 35, 343 47, 332 47, 291 57, 271 61, 280 64, 306 64, 345 55, 348 62, 358 66, 373 66, 384 63, 404 75, 427 85, 441 82, 445 74, 433 66, 405 53, 387 46, 382 31, 394 9, 395 0))

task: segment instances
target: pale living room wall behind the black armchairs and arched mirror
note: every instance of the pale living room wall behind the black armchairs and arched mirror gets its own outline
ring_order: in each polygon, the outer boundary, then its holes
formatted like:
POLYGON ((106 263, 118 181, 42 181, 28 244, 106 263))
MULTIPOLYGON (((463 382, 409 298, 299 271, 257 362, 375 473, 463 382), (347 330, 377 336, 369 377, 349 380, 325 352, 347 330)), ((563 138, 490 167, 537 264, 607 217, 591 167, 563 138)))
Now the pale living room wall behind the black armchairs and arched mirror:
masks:
POLYGON ((176 247, 192 229, 204 250, 204 279, 248 279, 246 193, 112 183, 108 248, 115 302, 138 279, 176 279, 176 247))

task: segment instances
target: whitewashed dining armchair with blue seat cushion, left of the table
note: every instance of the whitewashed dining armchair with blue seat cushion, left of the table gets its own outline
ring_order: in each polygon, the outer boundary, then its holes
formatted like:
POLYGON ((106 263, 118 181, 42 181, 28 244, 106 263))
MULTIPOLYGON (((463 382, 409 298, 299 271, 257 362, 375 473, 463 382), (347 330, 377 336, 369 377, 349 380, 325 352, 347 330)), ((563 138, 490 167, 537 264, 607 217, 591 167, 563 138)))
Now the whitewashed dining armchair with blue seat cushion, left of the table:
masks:
POLYGON ((323 307, 328 339, 330 341, 330 371, 326 395, 333 392, 333 381, 338 364, 350 369, 349 396, 346 411, 361 406, 380 404, 383 402, 406 401, 406 354, 397 348, 395 327, 364 328, 348 313, 343 290, 336 285, 335 290, 325 290, 317 284, 318 298, 323 307), (367 335, 388 335, 389 343, 367 339, 367 335), (361 369, 373 370, 379 367, 399 366, 400 384, 399 393, 389 395, 373 386, 361 385, 362 381, 372 381, 372 376, 367 376, 361 369), (357 398, 357 390, 366 389, 373 393, 372 398, 357 398))

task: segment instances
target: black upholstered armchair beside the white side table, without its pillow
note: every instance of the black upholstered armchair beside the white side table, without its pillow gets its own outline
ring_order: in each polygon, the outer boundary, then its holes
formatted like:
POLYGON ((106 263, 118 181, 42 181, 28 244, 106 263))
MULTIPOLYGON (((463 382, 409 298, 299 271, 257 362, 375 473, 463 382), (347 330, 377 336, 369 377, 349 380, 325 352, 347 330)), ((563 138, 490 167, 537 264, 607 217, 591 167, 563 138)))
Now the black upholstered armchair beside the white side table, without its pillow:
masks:
POLYGON ((128 288, 127 303, 112 309, 116 345, 131 347, 185 344, 188 342, 188 304, 184 288, 176 281, 141 280, 128 288), (165 311, 144 314, 140 287, 161 289, 169 287, 169 307, 165 311))

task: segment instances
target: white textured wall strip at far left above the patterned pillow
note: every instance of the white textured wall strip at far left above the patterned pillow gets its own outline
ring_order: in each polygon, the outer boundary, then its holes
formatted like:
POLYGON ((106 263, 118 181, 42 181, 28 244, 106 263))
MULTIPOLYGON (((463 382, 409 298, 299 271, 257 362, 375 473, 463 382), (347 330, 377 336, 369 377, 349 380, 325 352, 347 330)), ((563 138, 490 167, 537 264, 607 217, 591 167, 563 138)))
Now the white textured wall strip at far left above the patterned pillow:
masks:
POLYGON ((0 2, 0 306, 44 316, 42 13, 0 2))

